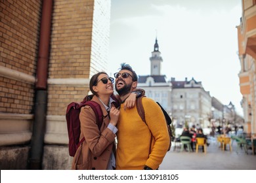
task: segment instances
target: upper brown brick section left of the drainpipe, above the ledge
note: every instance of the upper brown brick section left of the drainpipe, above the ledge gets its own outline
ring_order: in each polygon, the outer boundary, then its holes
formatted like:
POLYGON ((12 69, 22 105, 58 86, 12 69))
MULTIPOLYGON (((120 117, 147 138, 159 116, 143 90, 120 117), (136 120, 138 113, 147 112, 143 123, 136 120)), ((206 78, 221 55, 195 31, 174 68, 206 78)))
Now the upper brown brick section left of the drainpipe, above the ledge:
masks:
POLYGON ((35 74, 41 1, 1 1, 1 65, 35 74))

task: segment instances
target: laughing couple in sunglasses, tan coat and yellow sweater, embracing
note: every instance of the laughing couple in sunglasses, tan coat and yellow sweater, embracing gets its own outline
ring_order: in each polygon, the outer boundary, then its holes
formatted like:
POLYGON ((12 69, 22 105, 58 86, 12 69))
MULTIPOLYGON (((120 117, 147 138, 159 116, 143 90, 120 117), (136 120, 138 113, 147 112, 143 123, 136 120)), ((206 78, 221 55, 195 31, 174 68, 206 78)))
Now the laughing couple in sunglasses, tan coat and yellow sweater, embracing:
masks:
POLYGON ((101 72, 90 80, 92 100, 100 104, 104 120, 98 129, 91 107, 81 108, 80 139, 85 137, 85 141, 77 149, 72 169, 158 169, 169 146, 163 112, 154 100, 143 97, 144 123, 135 105, 137 95, 141 95, 141 90, 137 90, 137 74, 130 65, 122 63, 119 73, 114 76, 121 101, 118 108, 112 99, 114 78, 101 72), (140 92, 132 93, 134 91, 140 92))

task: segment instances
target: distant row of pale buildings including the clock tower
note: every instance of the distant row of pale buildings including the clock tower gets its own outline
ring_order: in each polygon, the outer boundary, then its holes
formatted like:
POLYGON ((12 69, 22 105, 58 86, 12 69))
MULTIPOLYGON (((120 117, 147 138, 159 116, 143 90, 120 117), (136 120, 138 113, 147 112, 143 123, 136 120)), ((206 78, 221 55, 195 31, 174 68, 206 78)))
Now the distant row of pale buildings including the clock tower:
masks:
POLYGON ((150 75, 139 75, 138 87, 146 92, 146 96, 158 101, 168 112, 175 127, 196 125, 209 128, 216 125, 243 124, 243 120, 235 112, 234 105, 223 105, 210 93, 205 91, 202 82, 194 78, 177 81, 167 80, 161 75, 161 52, 158 40, 150 57, 150 75))

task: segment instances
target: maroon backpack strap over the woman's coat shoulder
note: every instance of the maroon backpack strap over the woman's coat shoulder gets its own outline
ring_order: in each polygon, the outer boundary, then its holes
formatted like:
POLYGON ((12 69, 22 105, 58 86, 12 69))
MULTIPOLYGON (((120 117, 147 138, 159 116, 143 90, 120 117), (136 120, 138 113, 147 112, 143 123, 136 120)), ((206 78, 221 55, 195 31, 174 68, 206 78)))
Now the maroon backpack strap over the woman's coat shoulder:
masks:
MULTIPOLYGON (((85 99, 84 99, 84 101, 85 101, 85 99)), ((100 127, 103 122, 103 112, 102 112, 100 105, 98 103, 96 103, 95 101, 86 101, 83 104, 83 106, 85 106, 85 105, 89 105, 91 108, 93 108, 93 112, 95 112, 95 116, 96 116, 96 124, 98 125, 98 129, 100 130, 100 127)), ((77 147, 79 147, 83 141, 85 141, 85 137, 83 137, 83 139, 81 139, 81 141, 79 141, 77 147)))

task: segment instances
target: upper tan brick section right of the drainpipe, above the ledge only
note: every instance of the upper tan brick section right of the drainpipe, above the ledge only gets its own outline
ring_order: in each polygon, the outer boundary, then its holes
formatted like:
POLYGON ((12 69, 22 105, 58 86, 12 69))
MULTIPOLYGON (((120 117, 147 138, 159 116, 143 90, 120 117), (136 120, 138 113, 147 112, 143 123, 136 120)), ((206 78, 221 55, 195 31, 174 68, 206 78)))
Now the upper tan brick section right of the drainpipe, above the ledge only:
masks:
POLYGON ((89 78, 93 0, 54 1, 49 78, 89 78))

